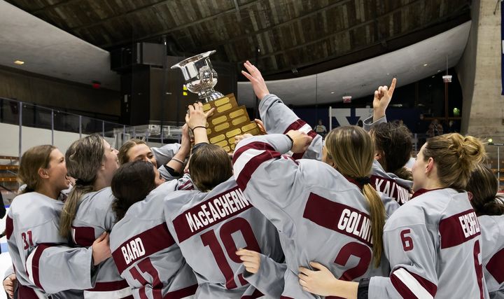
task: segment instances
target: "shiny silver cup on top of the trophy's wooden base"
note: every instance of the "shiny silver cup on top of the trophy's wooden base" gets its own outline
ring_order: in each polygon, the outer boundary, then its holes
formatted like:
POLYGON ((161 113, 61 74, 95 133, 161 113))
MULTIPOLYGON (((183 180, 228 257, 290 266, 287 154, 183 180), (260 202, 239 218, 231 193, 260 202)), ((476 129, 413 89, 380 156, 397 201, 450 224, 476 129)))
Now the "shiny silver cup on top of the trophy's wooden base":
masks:
POLYGON ((209 51, 190 57, 172 66, 179 68, 186 79, 186 87, 190 92, 197 93, 200 101, 207 103, 224 97, 221 92, 215 91, 217 84, 217 72, 212 68, 210 55, 216 51, 209 51))

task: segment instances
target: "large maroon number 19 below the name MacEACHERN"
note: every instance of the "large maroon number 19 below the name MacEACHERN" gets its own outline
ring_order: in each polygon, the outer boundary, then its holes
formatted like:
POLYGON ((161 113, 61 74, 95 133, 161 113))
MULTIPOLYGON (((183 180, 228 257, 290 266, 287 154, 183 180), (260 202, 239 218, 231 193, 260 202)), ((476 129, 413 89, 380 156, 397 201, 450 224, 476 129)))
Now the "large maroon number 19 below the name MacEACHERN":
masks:
MULTIPOLYGON (((259 244, 257 239, 253 234, 253 230, 251 225, 244 218, 234 218, 229 222, 224 223, 221 226, 221 240, 224 244, 225 250, 228 252, 229 258, 235 263, 241 263, 239 257, 235 254, 237 251, 237 247, 235 241, 232 238, 232 234, 237 231, 241 232, 243 235, 245 242, 247 244, 246 248, 249 250, 260 252, 259 244)), ((226 279, 226 288, 232 289, 237 288, 237 284, 235 281, 235 274, 233 273, 231 266, 226 260, 224 251, 219 244, 217 236, 214 230, 209 230, 201 235, 202 242, 204 246, 209 246, 214 258, 217 262, 219 269, 221 269, 222 274, 226 279)), ((246 281, 240 281, 242 285, 246 284, 246 281)))

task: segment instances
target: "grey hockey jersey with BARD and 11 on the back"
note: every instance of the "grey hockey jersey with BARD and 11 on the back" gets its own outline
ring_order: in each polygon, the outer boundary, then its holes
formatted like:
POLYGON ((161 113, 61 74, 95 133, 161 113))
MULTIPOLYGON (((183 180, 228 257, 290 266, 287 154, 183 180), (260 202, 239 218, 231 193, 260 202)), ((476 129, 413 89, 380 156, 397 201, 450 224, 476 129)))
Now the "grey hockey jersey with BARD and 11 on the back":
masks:
MULTIPOLYGON (((184 176, 184 179, 188 176, 184 176)), ((164 198, 184 179, 155 188, 145 200, 133 204, 111 232, 113 260, 136 299, 192 298, 197 282, 165 223, 164 198)))

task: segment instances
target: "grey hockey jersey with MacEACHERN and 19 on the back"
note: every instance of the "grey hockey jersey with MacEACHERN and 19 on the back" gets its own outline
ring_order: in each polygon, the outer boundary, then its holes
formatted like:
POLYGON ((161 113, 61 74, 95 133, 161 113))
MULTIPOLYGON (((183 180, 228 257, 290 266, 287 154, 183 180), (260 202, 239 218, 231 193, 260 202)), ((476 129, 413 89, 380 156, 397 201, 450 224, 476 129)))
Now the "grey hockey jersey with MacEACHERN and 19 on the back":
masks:
MULTIPOLYGON (((209 193, 179 191, 165 199, 167 225, 198 280, 197 298, 263 298, 243 277, 239 248, 283 261, 276 228, 244 197, 235 179, 209 193)), ((272 277, 262 277, 272 279, 272 277)))

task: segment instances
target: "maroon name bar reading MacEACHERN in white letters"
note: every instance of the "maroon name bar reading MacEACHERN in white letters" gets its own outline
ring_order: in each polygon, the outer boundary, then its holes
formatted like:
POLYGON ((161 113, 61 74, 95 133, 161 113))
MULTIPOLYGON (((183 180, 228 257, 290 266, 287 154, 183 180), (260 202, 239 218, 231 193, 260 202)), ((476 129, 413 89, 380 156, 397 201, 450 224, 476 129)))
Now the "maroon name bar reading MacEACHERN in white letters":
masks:
POLYGON ((252 205, 238 187, 211 197, 174 219, 173 224, 179 243, 209 226, 224 221, 251 207, 252 205))

